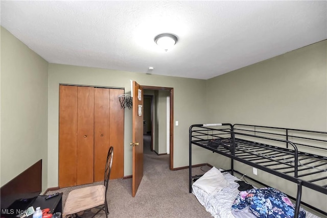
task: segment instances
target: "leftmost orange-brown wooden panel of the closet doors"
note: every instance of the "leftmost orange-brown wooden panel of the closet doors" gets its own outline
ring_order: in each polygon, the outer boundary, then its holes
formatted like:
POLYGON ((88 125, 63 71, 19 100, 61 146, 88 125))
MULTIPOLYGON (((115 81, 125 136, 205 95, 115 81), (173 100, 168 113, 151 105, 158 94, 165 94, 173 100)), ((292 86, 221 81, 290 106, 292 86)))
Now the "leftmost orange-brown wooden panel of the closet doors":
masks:
POLYGON ((77 87, 59 86, 59 187, 76 185, 77 87))

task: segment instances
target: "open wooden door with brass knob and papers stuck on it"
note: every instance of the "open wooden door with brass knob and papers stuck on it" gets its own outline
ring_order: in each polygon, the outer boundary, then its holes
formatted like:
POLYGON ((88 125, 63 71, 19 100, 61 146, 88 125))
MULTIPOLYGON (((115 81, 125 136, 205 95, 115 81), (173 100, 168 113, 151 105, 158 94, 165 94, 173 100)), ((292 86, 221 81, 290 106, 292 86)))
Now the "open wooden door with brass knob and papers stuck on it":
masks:
POLYGON ((133 179, 132 196, 135 197, 137 188, 143 178, 143 88, 135 81, 133 89, 133 179))

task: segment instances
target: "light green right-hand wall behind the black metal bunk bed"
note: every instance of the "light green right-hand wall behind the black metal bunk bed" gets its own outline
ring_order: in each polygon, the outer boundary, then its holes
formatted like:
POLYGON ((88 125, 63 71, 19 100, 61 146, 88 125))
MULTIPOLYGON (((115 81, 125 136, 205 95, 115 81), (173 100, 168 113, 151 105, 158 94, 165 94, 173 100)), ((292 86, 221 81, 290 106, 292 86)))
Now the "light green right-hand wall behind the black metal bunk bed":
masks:
MULTIPOLYGON (((326 44, 326 40, 315 43, 208 80, 211 123, 327 131, 326 44)), ((211 163, 224 168, 229 165, 226 158, 217 155, 211 163)), ((244 164, 236 164, 236 169, 253 176, 252 168, 244 164)), ((254 177, 295 196, 295 183, 272 179, 260 171, 254 177)), ((326 195, 305 189, 302 198, 326 209, 326 195)))

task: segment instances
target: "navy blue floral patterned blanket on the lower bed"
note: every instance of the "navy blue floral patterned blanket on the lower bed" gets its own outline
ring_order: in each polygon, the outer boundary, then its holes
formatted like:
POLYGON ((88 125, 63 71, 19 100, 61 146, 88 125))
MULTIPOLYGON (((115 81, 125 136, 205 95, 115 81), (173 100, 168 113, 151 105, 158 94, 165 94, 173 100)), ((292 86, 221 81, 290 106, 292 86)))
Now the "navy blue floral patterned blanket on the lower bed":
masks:
MULTIPOLYGON (((294 217, 291 200, 282 191, 271 187, 240 191, 231 208, 242 210, 247 206, 256 217, 294 217)), ((306 211, 301 208, 298 217, 305 218, 306 211)))

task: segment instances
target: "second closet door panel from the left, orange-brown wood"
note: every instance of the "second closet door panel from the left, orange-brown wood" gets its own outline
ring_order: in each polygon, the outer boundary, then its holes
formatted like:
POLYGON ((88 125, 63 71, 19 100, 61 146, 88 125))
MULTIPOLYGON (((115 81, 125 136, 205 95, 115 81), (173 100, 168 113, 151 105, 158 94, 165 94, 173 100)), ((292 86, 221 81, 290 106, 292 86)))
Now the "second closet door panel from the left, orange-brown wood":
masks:
POLYGON ((94 87, 77 88, 77 185, 94 179, 94 87))

